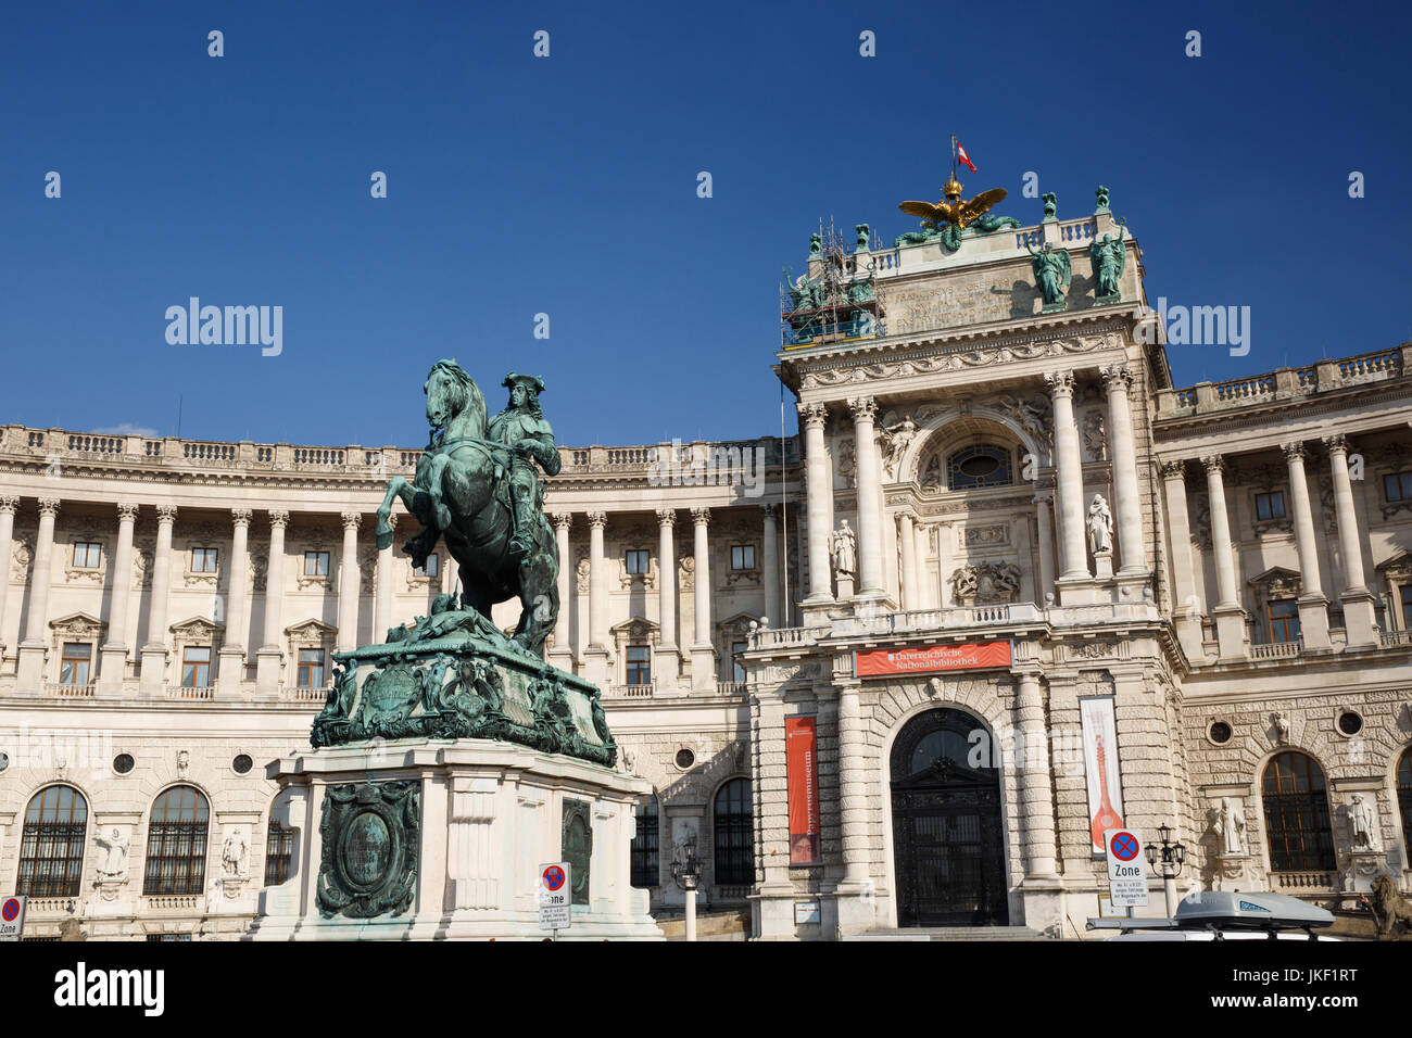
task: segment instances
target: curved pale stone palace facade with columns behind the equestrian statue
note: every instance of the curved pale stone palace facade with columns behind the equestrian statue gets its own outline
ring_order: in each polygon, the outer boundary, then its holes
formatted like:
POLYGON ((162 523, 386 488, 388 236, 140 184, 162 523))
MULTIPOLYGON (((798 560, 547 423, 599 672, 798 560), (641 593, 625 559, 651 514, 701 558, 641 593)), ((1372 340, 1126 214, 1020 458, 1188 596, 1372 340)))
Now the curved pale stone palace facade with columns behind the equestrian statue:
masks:
MULTIPOLYGON (((786 291, 798 439, 561 448, 549 482, 549 658, 655 788, 654 909, 695 859, 758 938, 1075 938, 1123 825, 1171 829, 1182 890, 1406 890, 1412 345, 1178 388, 1106 192, 858 230, 786 291)), ((27 932, 246 929, 311 823, 265 765, 308 746, 333 652, 456 586, 443 549, 417 572, 373 544, 417 459, 0 428, 0 888, 27 932)))

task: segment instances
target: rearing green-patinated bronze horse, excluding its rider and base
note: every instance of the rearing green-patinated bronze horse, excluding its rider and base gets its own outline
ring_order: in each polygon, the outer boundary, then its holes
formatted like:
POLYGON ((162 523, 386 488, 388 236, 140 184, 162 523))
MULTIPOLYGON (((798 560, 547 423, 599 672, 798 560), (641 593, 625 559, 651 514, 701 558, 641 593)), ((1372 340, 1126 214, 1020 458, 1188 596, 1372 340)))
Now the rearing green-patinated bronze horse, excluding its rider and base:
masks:
POLYGON ((544 655, 544 641, 559 616, 559 548, 544 510, 534 520, 528 554, 511 551, 514 532, 508 473, 513 452, 486 438, 486 397, 455 360, 438 360, 422 386, 432 441, 408 483, 394 476, 377 510, 378 551, 393 542, 388 515, 400 497, 422 524, 402 551, 424 566, 445 539, 460 571, 462 606, 487 620, 497 602, 518 597, 522 606, 514 641, 544 655))

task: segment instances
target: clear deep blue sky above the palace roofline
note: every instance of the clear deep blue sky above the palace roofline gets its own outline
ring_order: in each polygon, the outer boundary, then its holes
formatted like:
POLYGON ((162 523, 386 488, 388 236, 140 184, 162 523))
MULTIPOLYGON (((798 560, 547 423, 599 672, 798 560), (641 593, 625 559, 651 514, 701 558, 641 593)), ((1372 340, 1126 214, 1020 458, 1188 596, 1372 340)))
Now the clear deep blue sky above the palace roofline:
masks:
POLYGON ((1172 347, 1179 384, 1391 347, 1409 38, 1392 6, 10 3, 0 422, 172 435, 184 394, 186 436, 418 445, 456 356, 496 408, 544 374, 563 443, 772 434, 781 267, 820 216, 914 229, 953 131, 998 212, 1038 220, 1025 171, 1060 217, 1106 184, 1154 302, 1251 306, 1250 356, 1172 347), (168 345, 191 295, 281 305, 282 354, 168 345))

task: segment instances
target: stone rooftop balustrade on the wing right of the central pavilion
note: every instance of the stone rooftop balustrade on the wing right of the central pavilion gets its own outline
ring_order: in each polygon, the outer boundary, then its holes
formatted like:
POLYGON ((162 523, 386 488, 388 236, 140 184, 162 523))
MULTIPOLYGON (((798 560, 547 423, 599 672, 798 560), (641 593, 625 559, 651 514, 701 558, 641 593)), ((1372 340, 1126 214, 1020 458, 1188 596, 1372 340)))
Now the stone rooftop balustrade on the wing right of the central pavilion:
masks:
POLYGON ((1158 390, 1158 419, 1190 418, 1230 408, 1300 400, 1350 386, 1409 376, 1412 376, 1412 342, 1405 342, 1392 350, 1363 353, 1341 360, 1320 360, 1306 367, 1281 367, 1247 378, 1158 390))

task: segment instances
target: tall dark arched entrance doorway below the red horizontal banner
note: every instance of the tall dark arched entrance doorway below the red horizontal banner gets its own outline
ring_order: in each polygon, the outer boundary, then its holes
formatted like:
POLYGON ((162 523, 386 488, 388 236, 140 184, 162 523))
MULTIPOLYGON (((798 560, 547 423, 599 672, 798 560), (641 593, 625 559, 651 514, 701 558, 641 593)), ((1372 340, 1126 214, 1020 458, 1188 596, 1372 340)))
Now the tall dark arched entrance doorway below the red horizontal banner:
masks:
POLYGON ((892 744, 899 926, 1010 924, 1000 771, 967 763, 974 732, 964 710, 928 710, 892 744))

